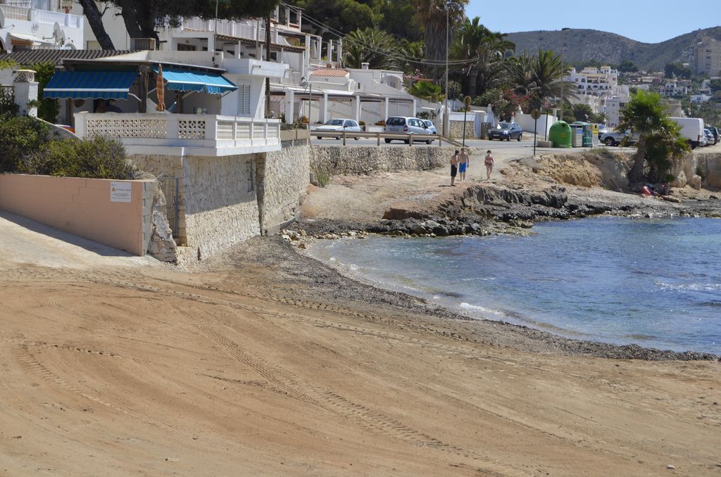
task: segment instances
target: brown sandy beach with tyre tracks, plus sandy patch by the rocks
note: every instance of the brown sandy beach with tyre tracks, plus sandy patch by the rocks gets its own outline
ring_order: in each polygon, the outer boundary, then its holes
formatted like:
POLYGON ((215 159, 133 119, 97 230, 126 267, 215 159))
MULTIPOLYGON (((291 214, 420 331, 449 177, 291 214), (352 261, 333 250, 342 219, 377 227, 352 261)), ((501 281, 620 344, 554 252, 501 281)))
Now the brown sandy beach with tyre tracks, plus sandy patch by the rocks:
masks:
MULTIPOLYGON (((317 222, 391 195, 334 181, 317 222)), ((721 473, 712 356, 469 320, 277 236, 186 270, 45 250, 0 244, 0 476, 721 473)))

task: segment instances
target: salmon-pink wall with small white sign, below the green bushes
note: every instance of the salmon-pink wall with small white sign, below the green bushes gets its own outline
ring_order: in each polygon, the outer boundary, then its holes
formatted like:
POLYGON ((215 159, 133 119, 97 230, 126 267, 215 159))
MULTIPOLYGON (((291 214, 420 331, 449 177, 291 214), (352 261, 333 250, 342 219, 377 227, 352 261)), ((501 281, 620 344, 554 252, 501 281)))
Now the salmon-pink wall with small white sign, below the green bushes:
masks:
POLYGON ((0 209, 144 255, 155 181, 131 183, 131 202, 110 202, 110 180, 0 174, 0 209))

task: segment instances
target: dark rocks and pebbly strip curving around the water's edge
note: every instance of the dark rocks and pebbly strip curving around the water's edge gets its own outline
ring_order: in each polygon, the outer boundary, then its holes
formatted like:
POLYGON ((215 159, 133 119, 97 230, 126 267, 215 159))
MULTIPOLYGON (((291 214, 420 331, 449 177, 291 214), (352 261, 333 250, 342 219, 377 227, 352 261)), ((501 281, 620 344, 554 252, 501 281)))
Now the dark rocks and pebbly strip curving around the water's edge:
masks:
MULTIPOLYGON (((629 218, 720 217, 721 200, 715 193, 703 198, 687 197, 683 191, 666 200, 640 197, 600 188, 564 187, 558 183, 527 188, 508 184, 474 184, 434 202, 430 207, 393 205, 383 218, 367 220, 301 219, 282 231, 286 246, 306 249, 319 239, 364 239, 369 233, 391 236, 489 236, 500 233, 533 233, 536 222, 570 220, 598 215, 629 218)), ((367 303, 398 306, 405 311, 430 314, 454 321, 474 321, 478 334, 463 339, 500 344, 539 352, 562 352, 614 359, 634 360, 716 360, 721 357, 702 352, 673 352, 640 347, 636 344, 616 346, 601 342, 567 339, 546 331, 502 321, 477 321, 459 313, 425 302, 421 298, 381 290, 363 283, 362 277, 347 277, 338 270, 317 262, 303 252, 293 254, 299 269, 306 270, 315 284, 336 297, 362 298, 367 303), (510 336, 513 336, 510 338, 510 336)), ((315 286, 314 286, 315 289, 315 286)))

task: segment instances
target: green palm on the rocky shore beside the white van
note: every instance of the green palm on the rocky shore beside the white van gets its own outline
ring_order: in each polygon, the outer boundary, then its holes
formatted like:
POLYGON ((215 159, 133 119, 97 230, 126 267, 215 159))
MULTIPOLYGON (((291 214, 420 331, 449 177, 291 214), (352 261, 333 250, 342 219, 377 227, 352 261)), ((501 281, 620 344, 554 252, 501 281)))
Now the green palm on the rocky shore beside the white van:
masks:
POLYGON ((665 150, 665 156, 675 156, 688 150, 688 146, 684 148, 678 141, 678 128, 674 128, 674 124, 665 114, 660 94, 640 89, 632 95, 631 100, 621 110, 621 120, 616 126, 618 130, 630 130, 638 134, 636 156, 628 174, 629 182, 642 182, 646 155, 649 152, 647 146, 653 146, 650 151, 655 154, 657 161, 660 159, 660 147, 665 150))

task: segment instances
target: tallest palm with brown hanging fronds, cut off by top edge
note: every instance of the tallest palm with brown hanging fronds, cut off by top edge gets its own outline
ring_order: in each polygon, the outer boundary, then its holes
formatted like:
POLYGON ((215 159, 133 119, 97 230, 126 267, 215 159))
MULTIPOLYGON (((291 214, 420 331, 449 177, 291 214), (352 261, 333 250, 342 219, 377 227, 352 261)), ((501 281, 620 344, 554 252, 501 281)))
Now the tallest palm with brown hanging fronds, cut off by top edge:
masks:
POLYGON ((446 59, 446 25, 451 30, 449 37, 452 39, 454 26, 464 19, 464 6, 468 1, 411 0, 415 6, 416 22, 423 25, 425 53, 433 66, 434 81, 438 80, 438 65, 446 59))

